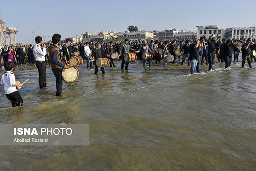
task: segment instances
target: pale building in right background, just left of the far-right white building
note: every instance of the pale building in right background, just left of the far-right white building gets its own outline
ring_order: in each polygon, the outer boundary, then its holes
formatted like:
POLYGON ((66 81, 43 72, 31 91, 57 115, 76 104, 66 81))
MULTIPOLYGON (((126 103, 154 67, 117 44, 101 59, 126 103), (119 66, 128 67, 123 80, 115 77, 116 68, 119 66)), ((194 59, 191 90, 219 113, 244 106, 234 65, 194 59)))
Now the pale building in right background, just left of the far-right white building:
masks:
POLYGON ((222 39, 225 35, 225 30, 218 28, 216 25, 212 26, 196 26, 197 27, 197 36, 196 39, 200 39, 203 35, 208 39, 211 37, 212 34, 218 34, 218 38, 222 39))

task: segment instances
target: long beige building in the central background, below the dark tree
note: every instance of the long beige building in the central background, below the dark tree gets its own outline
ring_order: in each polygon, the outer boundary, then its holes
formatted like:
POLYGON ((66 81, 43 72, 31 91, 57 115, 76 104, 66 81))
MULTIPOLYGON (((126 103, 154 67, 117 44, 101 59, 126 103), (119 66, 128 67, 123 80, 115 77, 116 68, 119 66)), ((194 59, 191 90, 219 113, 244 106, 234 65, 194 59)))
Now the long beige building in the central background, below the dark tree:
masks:
POLYGON ((154 33, 147 30, 140 30, 137 32, 125 32, 115 33, 117 38, 127 38, 129 40, 148 40, 154 38, 154 33))

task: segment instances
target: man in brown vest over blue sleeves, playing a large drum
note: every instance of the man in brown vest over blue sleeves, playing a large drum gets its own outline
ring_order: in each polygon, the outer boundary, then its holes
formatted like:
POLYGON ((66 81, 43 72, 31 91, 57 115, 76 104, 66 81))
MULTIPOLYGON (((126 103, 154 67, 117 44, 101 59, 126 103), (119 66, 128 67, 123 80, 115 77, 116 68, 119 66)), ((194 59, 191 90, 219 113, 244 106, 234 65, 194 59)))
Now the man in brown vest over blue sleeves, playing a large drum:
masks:
POLYGON ((52 66, 52 71, 56 78, 56 96, 60 96, 62 92, 62 68, 68 69, 68 66, 64 66, 61 63, 60 53, 58 46, 61 43, 61 35, 54 34, 52 37, 53 45, 48 48, 49 62, 52 66))

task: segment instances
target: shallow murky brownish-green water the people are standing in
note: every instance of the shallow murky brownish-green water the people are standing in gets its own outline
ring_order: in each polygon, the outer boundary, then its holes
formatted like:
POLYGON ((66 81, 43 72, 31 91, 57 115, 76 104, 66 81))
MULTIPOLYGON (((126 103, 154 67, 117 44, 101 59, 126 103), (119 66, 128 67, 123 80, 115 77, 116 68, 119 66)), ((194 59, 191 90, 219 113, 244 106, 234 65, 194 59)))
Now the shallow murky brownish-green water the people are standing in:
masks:
POLYGON ((18 67, 16 79, 30 79, 24 106, 10 108, 0 86, 0 123, 90 124, 90 145, 0 146, 0 171, 255 170, 256 72, 239 60, 193 75, 187 63, 121 71, 115 61, 98 75, 84 63, 58 98, 49 66, 43 90, 35 66, 18 67))

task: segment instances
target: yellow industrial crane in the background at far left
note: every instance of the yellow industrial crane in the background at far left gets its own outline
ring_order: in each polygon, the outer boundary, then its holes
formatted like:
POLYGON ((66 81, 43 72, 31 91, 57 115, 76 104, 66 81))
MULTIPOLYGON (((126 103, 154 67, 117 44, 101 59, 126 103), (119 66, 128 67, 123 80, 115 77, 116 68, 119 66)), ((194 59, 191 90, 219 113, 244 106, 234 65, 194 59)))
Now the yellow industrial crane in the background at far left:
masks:
POLYGON ((14 27, 7 27, 7 25, 5 24, 5 22, 2 19, 1 14, 0 14, 0 24, 1 24, 1 27, 0 27, 1 45, 7 44, 7 38, 10 38, 10 44, 12 44, 12 33, 13 33, 14 42, 15 42, 15 45, 16 45, 16 34, 18 33, 18 30, 14 27), (2 37, 1 31, 4 34, 4 43, 3 43, 3 40, 2 40, 3 37, 2 37))

